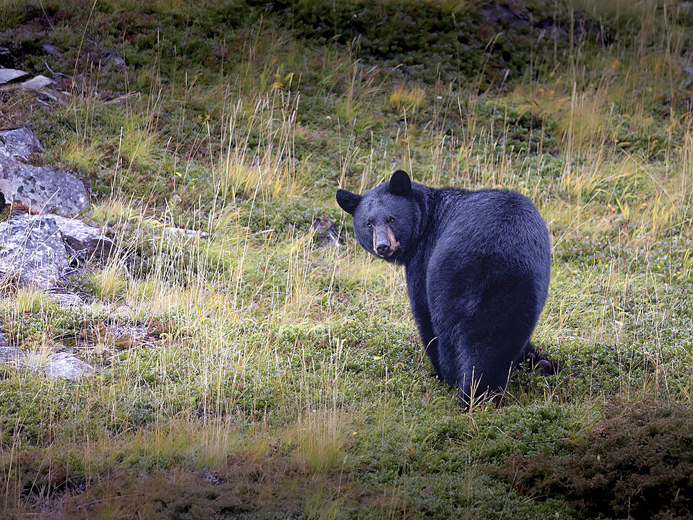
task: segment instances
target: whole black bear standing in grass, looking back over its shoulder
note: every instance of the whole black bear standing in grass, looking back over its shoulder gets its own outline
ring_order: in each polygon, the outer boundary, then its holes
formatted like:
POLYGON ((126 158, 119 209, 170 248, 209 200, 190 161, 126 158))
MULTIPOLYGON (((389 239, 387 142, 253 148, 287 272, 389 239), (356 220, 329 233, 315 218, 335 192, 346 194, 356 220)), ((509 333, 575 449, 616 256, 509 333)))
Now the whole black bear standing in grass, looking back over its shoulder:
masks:
POLYGON ((363 195, 337 190, 362 247, 405 266, 426 354, 442 381, 475 396, 505 390, 549 288, 551 246, 532 202, 505 190, 433 189, 398 170, 363 195))

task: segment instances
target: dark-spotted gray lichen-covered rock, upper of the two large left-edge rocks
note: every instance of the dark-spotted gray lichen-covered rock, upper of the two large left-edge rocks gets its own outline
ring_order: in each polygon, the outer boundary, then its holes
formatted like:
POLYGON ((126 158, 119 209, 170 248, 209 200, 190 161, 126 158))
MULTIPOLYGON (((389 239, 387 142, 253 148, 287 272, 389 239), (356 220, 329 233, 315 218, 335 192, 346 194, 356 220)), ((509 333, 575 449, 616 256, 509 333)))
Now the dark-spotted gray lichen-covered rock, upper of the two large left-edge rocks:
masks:
POLYGON ((0 131, 0 193, 8 204, 17 203, 31 213, 76 214, 89 207, 89 193, 73 173, 26 164, 41 149, 27 128, 0 131))

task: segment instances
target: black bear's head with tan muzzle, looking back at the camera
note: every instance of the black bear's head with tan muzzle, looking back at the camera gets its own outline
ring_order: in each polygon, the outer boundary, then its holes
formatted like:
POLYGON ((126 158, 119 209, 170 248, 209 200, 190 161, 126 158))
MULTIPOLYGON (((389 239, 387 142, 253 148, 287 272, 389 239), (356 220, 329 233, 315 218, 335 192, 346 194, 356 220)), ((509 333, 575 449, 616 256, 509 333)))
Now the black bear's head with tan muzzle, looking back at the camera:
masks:
MULTIPOLYGON (((418 187, 414 184, 414 188, 418 187)), ((412 181, 398 170, 389 182, 358 195, 337 190, 337 203, 353 216, 356 239, 369 253, 387 261, 402 261, 421 220, 412 181)))

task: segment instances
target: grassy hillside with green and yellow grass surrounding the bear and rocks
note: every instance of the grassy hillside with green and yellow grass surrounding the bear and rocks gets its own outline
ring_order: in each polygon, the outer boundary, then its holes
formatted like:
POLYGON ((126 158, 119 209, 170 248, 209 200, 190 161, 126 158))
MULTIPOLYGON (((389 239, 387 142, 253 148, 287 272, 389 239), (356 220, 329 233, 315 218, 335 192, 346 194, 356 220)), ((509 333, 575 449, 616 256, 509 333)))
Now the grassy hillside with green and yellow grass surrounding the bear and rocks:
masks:
POLYGON ((0 125, 118 244, 80 309, 0 284, 11 343, 99 368, 0 365, 3 517, 689 517, 692 29, 673 0, 1 3, 0 65, 64 94, 5 89, 0 125), (334 201, 398 168, 532 198, 563 372, 468 412, 429 376, 334 201))

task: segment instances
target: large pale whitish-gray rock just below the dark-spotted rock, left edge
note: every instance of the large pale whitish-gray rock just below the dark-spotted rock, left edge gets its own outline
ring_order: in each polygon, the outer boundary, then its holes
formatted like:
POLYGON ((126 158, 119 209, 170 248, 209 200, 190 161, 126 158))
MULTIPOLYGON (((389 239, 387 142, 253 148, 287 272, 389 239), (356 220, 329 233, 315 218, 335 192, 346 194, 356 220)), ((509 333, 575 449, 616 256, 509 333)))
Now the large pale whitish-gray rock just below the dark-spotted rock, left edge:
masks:
POLYGON ((80 220, 23 215, 0 223, 0 275, 40 288, 54 286, 74 258, 107 256, 113 241, 80 220))

